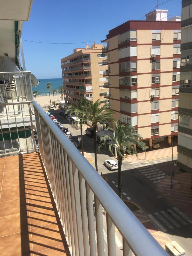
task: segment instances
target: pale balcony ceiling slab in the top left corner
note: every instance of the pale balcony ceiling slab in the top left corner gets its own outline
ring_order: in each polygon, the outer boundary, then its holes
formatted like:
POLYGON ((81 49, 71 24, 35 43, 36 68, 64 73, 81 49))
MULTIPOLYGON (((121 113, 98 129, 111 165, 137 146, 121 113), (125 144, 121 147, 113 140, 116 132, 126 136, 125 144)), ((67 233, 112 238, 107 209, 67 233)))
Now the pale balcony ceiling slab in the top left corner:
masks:
POLYGON ((1 0, 0 20, 28 21, 33 0, 1 0))

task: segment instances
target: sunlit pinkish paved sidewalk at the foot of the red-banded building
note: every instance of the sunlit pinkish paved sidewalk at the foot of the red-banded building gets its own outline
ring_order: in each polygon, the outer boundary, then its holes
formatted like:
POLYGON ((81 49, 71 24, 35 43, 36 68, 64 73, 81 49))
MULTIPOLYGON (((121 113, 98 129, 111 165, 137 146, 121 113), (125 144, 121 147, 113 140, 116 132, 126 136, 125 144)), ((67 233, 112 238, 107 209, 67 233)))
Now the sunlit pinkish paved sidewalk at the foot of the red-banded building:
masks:
MULTIPOLYGON (((173 147, 173 155, 177 155, 177 146, 173 147)), ((139 153, 138 158, 135 155, 127 155, 123 161, 125 162, 143 162, 150 161, 158 158, 172 156, 172 147, 162 148, 162 149, 153 149, 139 153)))

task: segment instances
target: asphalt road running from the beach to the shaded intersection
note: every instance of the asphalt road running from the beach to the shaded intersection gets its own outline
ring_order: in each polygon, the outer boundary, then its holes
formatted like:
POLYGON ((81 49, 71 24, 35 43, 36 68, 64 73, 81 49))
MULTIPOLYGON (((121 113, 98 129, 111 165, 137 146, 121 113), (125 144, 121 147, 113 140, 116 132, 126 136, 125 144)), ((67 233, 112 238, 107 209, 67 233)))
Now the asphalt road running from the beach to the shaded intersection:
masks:
MULTIPOLYGON (((50 111, 65 125, 78 140, 80 131, 71 124, 58 111, 50 111)), ((89 138, 83 131, 84 151, 90 153, 94 159, 93 138, 89 138)), ((97 155, 98 171, 107 178, 107 183, 118 193, 117 171, 110 171, 104 165, 107 159, 114 159, 106 149, 100 150, 97 155)), ((177 160, 173 158, 174 162, 177 160)), ((92 163, 95 167, 95 162, 92 163)), ((179 171, 173 166, 174 173, 179 171)), ((186 256, 192 255, 192 221, 183 215, 166 198, 161 196, 156 188, 157 182, 171 174, 171 157, 157 159, 142 163, 122 163, 122 190, 123 200, 136 203, 153 221, 157 230, 162 230, 171 240, 175 240, 186 251, 186 256)), ((173 179, 174 184, 174 179, 173 179)))

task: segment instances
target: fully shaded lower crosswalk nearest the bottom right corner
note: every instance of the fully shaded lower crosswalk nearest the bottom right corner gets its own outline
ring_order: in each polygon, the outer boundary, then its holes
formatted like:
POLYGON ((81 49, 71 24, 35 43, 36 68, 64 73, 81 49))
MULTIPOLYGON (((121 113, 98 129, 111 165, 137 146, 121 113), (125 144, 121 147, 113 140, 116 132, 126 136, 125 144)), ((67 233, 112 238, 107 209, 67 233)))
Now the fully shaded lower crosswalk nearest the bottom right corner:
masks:
POLYGON ((177 207, 154 212, 148 216, 163 232, 192 224, 192 220, 177 207))

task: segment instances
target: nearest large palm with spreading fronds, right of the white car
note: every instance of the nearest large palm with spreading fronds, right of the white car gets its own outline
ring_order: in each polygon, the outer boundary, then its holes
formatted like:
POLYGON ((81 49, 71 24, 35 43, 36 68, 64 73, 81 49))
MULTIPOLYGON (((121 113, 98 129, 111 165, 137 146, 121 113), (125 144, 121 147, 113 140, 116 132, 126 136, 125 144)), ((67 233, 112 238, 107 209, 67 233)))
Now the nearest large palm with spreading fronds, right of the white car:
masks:
MULTIPOLYGON (((121 165, 122 159, 124 158, 124 153, 129 154, 137 154, 137 150, 133 147, 133 144, 136 144, 139 148, 143 151, 147 149, 146 143, 139 141, 141 136, 137 133, 134 133, 135 130, 131 124, 123 125, 121 121, 115 123, 115 129, 110 129, 113 132, 112 136, 104 135, 101 137, 102 141, 110 140, 113 141, 114 145, 116 146, 117 156, 118 156, 118 190, 119 190, 119 197, 122 199, 122 180, 121 180, 121 165), (126 147, 126 149, 124 149, 126 147)), ((113 154, 112 147, 113 144, 108 142, 109 144, 109 151, 113 154)), ((104 143, 100 144, 99 147, 104 145, 104 143)))

